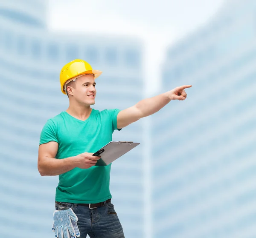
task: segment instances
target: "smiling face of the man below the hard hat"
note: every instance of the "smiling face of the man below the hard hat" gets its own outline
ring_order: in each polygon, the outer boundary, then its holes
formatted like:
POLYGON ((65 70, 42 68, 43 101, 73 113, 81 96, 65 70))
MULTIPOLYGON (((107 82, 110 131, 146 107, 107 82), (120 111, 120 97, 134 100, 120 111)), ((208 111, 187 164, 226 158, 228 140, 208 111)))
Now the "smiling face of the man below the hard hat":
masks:
POLYGON ((67 93, 72 100, 85 105, 94 105, 96 97, 95 80, 93 75, 83 75, 67 85, 67 93))

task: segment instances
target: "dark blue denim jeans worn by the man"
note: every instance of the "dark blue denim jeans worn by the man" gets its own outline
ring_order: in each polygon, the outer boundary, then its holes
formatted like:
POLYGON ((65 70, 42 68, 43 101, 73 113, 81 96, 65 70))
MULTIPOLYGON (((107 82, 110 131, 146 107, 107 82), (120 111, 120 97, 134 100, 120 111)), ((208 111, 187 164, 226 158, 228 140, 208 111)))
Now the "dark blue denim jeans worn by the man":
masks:
POLYGON ((125 238, 122 225, 110 202, 104 206, 90 209, 79 204, 55 202, 56 210, 71 208, 78 217, 77 225, 80 231, 79 238, 125 238))

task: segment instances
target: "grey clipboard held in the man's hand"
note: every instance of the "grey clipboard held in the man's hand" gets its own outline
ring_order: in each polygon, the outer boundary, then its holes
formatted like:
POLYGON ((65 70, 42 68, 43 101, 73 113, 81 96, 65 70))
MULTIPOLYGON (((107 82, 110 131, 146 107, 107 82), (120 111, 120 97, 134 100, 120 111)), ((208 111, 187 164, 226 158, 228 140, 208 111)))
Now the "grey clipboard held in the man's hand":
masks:
POLYGON ((132 141, 111 141, 93 154, 101 156, 95 166, 107 166, 139 144, 132 141))

